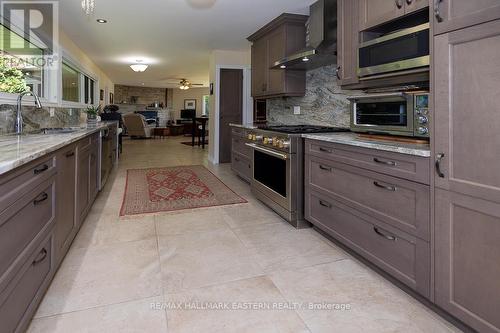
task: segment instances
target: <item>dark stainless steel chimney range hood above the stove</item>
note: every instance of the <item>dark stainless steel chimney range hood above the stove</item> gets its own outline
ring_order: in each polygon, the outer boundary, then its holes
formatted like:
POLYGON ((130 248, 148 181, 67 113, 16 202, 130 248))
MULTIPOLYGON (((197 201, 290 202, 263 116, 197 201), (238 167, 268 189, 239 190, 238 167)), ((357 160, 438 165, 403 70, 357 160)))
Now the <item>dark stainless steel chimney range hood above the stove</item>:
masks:
POLYGON ((337 0, 310 7, 306 48, 274 63, 272 69, 308 70, 337 63, 337 0))

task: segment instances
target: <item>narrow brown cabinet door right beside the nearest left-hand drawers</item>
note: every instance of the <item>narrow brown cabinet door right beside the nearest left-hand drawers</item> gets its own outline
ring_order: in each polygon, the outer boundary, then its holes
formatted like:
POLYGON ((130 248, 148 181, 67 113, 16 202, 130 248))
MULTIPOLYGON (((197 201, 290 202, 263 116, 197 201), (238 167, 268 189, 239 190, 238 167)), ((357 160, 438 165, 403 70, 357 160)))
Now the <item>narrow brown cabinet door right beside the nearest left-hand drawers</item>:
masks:
POLYGON ((57 156, 59 166, 57 173, 57 222, 55 229, 55 245, 57 262, 68 250, 76 234, 76 147, 64 149, 57 156))

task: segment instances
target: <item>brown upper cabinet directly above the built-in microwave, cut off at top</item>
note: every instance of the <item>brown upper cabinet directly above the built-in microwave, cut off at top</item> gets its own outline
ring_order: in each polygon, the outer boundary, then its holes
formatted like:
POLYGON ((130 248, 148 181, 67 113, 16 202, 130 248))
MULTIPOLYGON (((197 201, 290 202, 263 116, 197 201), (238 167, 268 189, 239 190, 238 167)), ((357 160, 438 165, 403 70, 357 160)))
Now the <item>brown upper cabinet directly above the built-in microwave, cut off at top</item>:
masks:
POLYGON ((429 6, 429 0, 359 0, 359 29, 392 21, 429 6))

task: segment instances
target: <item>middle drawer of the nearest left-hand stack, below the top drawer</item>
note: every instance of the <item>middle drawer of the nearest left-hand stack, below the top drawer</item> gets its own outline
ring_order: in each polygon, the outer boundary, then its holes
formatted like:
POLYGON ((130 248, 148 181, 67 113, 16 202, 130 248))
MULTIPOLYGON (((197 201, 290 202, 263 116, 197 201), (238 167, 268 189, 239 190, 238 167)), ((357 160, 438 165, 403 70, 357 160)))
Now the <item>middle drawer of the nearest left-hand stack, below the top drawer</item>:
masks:
POLYGON ((55 218, 55 182, 46 181, 0 214, 0 290, 55 218))

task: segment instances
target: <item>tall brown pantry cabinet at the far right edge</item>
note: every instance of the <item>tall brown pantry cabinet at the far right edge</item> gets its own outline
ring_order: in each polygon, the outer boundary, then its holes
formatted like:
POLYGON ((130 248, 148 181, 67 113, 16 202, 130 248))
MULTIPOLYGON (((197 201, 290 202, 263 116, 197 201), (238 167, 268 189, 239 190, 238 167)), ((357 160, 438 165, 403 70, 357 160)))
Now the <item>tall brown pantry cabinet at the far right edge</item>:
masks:
MULTIPOLYGON (((493 2, 474 1, 474 9, 480 11, 481 4, 493 2)), ((454 1, 452 13, 465 6, 454 1)), ((444 8, 449 12, 450 7, 444 8)), ((434 37, 436 303, 479 332, 496 333, 500 332, 499 50, 500 20, 434 37)))

